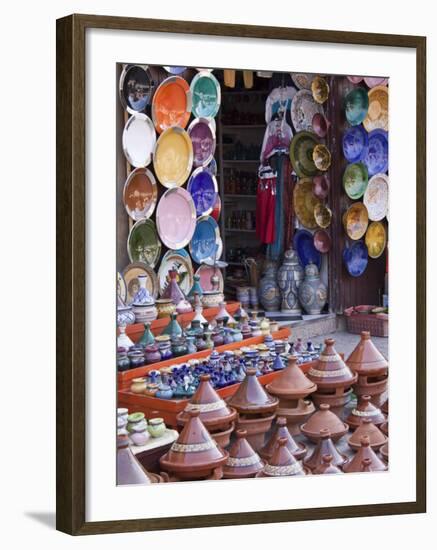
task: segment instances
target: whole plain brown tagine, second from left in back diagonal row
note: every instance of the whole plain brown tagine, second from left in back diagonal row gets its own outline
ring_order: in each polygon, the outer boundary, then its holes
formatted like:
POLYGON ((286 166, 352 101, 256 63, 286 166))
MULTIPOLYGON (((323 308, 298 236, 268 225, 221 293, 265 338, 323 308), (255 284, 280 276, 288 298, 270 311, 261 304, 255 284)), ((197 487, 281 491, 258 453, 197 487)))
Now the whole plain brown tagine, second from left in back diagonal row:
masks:
POLYGON ((248 368, 237 391, 228 399, 228 405, 238 412, 237 429, 247 431, 247 440, 255 451, 264 445, 270 430, 278 399, 269 395, 256 377, 256 369, 248 368))

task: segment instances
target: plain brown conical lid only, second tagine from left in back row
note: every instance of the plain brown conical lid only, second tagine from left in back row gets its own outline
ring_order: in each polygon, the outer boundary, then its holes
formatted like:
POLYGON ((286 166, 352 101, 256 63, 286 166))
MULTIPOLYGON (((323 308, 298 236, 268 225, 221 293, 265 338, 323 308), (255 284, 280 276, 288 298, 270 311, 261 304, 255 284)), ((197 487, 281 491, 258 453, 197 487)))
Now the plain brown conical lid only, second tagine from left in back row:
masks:
POLYGON ((228 405, 243 414, 273 412, 278 403, 278 398, 269 395, 261 386, 254 368, 246 370, 246 378, 234 395, 228 399, 228 405))

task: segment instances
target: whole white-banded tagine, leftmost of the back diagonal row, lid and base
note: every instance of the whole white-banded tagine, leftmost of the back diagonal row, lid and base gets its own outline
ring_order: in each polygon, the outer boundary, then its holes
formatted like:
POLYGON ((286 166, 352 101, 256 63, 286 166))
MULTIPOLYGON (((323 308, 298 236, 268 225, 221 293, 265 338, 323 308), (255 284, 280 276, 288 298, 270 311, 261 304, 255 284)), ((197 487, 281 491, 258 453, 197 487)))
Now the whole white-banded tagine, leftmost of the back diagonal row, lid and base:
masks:
POLYGON ((177 416, 178 424, 184 426, 190 419, 190 411, 199 411, 203 425, 220 447, 229 445, 237 411, 228 407, 210 383, 210 375, 202 374, 200 384, 185 409, 177 416))

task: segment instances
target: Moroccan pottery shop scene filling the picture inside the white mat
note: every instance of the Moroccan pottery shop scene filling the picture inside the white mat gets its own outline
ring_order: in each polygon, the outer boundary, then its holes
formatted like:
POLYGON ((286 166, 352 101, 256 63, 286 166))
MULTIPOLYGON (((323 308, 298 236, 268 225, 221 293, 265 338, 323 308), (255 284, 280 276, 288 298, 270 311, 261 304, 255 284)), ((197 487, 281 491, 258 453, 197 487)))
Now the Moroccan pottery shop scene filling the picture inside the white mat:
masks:
POLYGON ((388 80, 116 85, 117 483, 386 470, 388 80))

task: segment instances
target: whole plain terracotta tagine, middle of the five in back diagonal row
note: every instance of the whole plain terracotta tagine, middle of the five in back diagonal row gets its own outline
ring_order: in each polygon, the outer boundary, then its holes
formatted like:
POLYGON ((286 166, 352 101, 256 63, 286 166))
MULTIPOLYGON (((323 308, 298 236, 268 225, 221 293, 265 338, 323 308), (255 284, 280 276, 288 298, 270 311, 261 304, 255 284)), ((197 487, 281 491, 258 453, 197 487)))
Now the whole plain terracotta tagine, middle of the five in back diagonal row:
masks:
POLYGON ((317 390, 297 364, 297 357, 290 355, 286 368, 267 384, 266 390, 279 399, 278 416, 284 416, 292 435, 300 433, 299 426, 315 411, 313 403, 304 398, 317 390))

